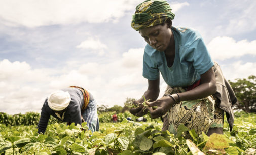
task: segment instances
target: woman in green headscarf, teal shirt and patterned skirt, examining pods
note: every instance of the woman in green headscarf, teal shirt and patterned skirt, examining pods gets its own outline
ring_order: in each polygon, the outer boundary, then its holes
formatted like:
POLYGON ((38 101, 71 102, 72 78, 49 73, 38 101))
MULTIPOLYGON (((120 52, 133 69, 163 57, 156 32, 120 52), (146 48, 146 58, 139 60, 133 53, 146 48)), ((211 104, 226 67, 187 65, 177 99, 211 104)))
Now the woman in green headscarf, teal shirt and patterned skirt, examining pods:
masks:
MULTIPOLYGON (((166 1, 144 1, 136 7, 131 26, 148 43, 143 56, 143 76, 148 79, 144 96, 152 118, 163 117, 162 130, 176 130, 184 124, 197 133, 223 134, 226 112, 230 129, 233 127, 231 105, 236 97, 214 63, 200 34, 192 29, 174 27, 174 14, 166 1), (168 87, 159 96, 159 72, 168 87), (151 107, 158 106, 157 109, 151 107)), ((134 115, 147 113, 140 98, 134 115)))

